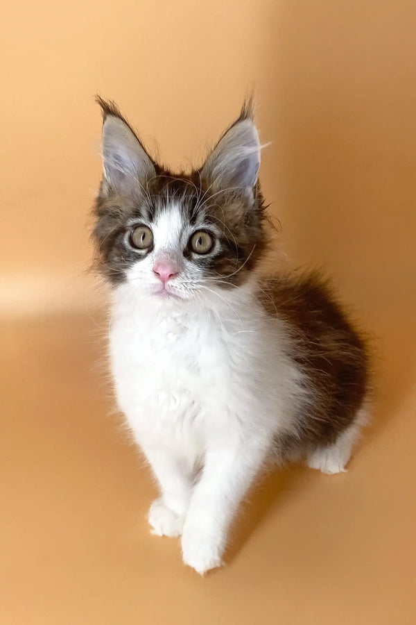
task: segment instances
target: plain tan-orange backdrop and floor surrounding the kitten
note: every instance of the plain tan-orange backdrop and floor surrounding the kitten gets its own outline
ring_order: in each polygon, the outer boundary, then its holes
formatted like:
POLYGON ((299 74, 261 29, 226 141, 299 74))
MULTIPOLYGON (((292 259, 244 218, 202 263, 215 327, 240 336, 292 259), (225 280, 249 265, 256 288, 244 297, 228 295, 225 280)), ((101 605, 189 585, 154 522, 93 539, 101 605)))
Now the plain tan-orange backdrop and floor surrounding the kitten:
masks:
POLYGON ((26 0, 0 17, 2 622, 414 623, 416 4, 26 0), (106 416, 92 96, 177 167, 252 87, 281 245, 378 337, 379 401, 349 474, 268 478, 201 580, 148 534, 153 485, 106 416))

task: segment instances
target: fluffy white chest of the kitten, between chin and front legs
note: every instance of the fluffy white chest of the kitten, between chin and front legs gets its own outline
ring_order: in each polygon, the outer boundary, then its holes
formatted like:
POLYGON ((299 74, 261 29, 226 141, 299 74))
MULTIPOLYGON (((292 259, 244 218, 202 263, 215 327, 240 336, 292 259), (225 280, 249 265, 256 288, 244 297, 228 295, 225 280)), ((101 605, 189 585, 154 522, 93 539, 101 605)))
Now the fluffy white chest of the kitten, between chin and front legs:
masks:
POLYGON ((112 370, 137 441, 198 454, 207 437, 283 425, 295 372, 279 349, 278 330, 253 303, 224 315, 200 306, 146 306, 121 291, 112 315, 112 370))

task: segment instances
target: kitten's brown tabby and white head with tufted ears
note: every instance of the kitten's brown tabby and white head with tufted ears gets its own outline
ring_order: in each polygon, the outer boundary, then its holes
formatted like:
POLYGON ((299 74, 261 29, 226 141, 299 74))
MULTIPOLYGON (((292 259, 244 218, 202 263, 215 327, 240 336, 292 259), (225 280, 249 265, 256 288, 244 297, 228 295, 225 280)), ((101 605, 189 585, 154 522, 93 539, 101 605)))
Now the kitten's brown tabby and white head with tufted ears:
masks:
POLYGON ((94 238, 107 281, 177 301, 243 285, 266 246, 251 103, 205 164, 180 175, 151 158, 113 103, 98 103, 103 181, 94 238))

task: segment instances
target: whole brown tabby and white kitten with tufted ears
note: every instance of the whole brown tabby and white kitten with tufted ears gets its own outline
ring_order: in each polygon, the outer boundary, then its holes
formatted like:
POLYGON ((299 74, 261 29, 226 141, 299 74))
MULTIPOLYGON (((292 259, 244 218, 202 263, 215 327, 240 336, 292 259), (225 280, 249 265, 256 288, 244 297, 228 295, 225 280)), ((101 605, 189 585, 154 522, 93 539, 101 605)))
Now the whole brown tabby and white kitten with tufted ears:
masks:
POLYGON ((250 103, 200 169, 175 175, 98 102, 94 237, 116 396, 159 483, 152 531, 181 535, 204 574, 267 460, 344 470, 365 419, 365 346, 319 276, 257 276, 266 209, 250 103))

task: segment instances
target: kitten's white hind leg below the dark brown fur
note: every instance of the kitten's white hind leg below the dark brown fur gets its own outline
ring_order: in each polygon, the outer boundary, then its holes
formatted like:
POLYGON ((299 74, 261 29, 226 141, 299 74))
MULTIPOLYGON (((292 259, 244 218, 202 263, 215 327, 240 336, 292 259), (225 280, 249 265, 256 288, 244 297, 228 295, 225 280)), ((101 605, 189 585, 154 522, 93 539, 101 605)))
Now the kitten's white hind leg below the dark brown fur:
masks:
POLYGON ((366 421, 367 411, 365 408, 361 408, 352 424, 338 435, 333 444, 327 445, 327 447, 318 447, 309 453, 308 466, 329 475, 345 473, 347 471, 345 466, 351 456, 352 448, 358 440, 361 426, 366 421))

